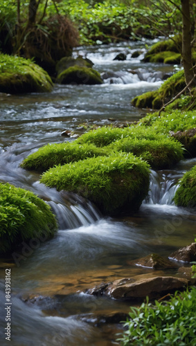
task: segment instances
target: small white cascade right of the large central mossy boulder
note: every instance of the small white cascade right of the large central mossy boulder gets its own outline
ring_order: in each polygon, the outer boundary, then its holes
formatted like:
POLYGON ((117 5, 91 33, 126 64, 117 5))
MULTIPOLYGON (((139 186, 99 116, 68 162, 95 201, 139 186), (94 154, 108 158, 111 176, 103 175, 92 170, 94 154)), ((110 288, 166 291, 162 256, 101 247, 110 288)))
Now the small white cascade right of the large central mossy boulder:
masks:
POLYGON ((176 178, 166 174, 152 171, 150 174, 150 190, 148 197, 143 203, 172 205, 175 192, 179 185, 176 185, 176 178))

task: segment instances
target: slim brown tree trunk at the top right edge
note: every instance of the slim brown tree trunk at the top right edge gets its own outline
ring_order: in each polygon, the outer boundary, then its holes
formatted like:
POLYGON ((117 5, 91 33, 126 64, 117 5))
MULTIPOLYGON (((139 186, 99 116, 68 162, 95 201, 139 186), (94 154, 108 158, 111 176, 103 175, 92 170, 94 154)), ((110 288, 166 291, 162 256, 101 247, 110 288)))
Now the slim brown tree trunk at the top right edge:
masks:
POLYGON ((194 77, 193 63, 191 57, 191 33, 190 33, 190 4, 189 0, 181 0, 182 11, 182 63, 186 84, 194 77))

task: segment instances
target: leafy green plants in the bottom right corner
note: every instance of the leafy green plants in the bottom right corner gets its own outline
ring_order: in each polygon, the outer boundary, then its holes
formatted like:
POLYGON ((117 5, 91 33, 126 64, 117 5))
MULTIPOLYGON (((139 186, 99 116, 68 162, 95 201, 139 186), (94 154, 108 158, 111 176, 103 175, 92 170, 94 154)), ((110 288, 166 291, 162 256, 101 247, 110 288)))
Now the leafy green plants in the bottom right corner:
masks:
POLYGON ((196 288, 175 293, 169 302, 132 307, 121 345, 186 346, 196 344, 196 288))

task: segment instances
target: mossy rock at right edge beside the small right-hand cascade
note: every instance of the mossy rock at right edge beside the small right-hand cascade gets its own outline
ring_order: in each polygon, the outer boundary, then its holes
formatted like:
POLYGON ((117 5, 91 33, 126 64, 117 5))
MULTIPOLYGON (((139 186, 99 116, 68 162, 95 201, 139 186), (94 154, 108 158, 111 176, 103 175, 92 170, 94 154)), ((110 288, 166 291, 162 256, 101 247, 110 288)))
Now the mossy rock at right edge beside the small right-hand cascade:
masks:
POLYGON ((175 204, 183 207, 196 206, 196 165, 184 174, 174 197, 175 204))

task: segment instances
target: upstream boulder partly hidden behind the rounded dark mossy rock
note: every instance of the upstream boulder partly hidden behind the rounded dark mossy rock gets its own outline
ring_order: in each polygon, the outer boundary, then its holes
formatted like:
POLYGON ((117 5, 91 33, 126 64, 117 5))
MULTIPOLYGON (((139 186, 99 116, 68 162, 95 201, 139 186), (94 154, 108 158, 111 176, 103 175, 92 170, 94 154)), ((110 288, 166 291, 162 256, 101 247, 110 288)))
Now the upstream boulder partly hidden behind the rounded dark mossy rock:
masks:
POLYGON ((84 59, 79 56, 76 59, 74 57, 62 57, 62 59, 56 64, 57 75, 60 75, 64 70, 69 69, 71 66, 80 66, 80 67, 92 67, 93 62, 89 59, 84 59))

